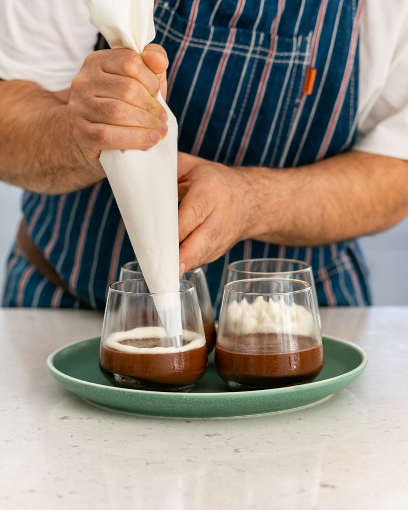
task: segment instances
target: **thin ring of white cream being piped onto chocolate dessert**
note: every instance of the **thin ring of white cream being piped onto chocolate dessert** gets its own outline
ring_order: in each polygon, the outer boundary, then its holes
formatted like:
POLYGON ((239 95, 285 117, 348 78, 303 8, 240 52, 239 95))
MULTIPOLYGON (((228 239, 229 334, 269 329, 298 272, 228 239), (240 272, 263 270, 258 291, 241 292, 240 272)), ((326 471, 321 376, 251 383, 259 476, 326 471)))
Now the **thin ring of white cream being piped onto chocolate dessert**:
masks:
MULTIPOLYGON (((183 330, 183 340, 188 341, 186 345, 181 347, 173 347, 170 342, 168 347, 135 347, 133 345, 122 344, 124 340, 141 340, 148 338, 162 338, 168 339, 164 327, 149 326, 149 327, 136 327, 129 331, 117 331, 112 333, 103 342, 105 347, 115 349, 128 354, 170 354, 174 352, 185 352, 193 349, 198 349, 206 345, 205 337, 200 337, 193 331, 183 330)), ((164 343, 164 342, 163 342, 164 343)))

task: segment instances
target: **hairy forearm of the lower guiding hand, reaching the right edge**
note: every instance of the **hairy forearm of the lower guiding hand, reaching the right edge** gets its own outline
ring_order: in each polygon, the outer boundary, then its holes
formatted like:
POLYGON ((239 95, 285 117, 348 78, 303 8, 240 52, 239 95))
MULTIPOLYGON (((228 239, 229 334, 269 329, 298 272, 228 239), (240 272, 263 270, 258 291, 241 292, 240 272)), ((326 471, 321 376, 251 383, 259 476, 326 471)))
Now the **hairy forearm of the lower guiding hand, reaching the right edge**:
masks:
POLYGON ((247 168, 249 236, 313 246, 373 234, 408 214, 408 162, 347 152, 291 169, 247 168))

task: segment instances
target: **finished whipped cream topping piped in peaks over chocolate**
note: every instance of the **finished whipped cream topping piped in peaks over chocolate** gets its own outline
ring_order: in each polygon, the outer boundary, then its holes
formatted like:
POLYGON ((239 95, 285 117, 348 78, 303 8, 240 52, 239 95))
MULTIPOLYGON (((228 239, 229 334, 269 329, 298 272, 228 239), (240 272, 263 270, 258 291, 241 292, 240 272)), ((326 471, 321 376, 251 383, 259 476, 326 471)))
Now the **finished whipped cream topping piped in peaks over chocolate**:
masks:
POLYGON ((287 304, 284 299, 265 299, 258 296, 254 301, 233 301, 226 309, 226 324, 232 333, 284 333, 314 336, 318 325, 312 314, 298 304, 287 304))

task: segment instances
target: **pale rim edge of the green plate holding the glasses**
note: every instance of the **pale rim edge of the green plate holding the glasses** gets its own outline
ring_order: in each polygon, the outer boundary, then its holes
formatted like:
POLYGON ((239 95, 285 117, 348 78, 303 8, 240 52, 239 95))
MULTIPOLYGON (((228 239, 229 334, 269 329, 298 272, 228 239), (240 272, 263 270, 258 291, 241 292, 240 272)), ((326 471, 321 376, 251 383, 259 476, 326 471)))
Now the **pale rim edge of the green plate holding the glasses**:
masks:
POLYGON ((100 341, 100 337, 97 336, 97 337, 84 338, 82 340, 70 342, 68 344, 63 345, 62 347, 59 347, 52 353, 50 353, 47 356, 47 360, 46 360, 46 366, 47 366, 49 372, 52 375, 56 375, 62 379, 74 382, 76 384, 90 386, 90 387, 99 388, 99 389, 109 388, 110 391, 114 391, 114 392, 116 391, 116 392, 120 392, 120 393, 125 392, 125 393, 129 393, 129 394, 134 394, 134 395, 138 395, 138 394, 157 395, 157 396, 164 395, 166 397, 169 397, 170 395, 174 395, 174 396, 176 396, 176 398, 177 398, 177 396, 182 396, 184 399, 214 398, 214 397, 222 398, 221 397, 222 395, 227 395, 230 398, 239 399, 239 398, 242 398, 242 393, 245 393, 245 395, 253 395, 254 397, 256 397, 256 396, 262 396, 265 394, 273 395, 273 393, 282 394, 282 393, 287 393, 287 392, 293 392, 293 391, 296 391, 297 389, 298 389, 298 391, 300 391, 300 389, 318 388, 319 386, 327 385, 327 383, 329 381, 342 380, 343 378, 349 377, 358 371, 364 371, 367 366, 367 362, 368 362, 368 357, 367 357, 367 354, 364 351, 364 349, 362 347, 360 347, 359 345, 355 344, 354 342, 350 342, 349 340, 344 340, 344 339, 341 339, 338 337, 333 337, 330 335, 322 335, 322 339, 327 339, 329 341, 335 341, 335 342, 341 343, 343 345, 345 344, 349 347, 352 347, 354 350, 358 351, 362 356, 361 363, 358 366, 356 366, 355 368, 353 368, 352 370, 349 370, 349 371, 344 372, 339 375, 335 375, 334 377, 329 377, 327 379, 323 379, 320 381, 306 382, 305 384, 297 385, 297 386, 286 386, 283 388, 267 388, 264 390, 249 390, 249 391, 245 391, 245 392, 225 391, 225 392, 208 392, 208 393, 181 393, 181 392, 165 392, 165 391, 137 390, 137 389, 130 389, 130 388, 118 388, 116 386, 101 385, 101 384, 98 384, 97 382, 90 382, 90 381, 85 381, 83 379, 78 379, 76 377, 72 377, 71 375, 67 375, 64 372, 61 372, 58 368, 55 367, 55 365, 53 363, 54 358, 61 351, 67 349, 68 347, 72 347, 73 345, 77 345, 77 344, 80 344, 83 342, 89 342, 91 340, 96 340, 96 339, 99 339, 99 341, 100 341))

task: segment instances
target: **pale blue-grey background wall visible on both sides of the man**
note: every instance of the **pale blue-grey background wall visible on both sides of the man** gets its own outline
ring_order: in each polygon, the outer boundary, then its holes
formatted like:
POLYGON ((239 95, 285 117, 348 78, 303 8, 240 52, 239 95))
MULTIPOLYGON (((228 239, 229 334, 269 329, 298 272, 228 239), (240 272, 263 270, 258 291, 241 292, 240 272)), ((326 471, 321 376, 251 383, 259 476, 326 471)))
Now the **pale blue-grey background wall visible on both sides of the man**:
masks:
MULTIPOLYGON (((0 183, 0 287, 13 243, 21 192, 0 183)), ((390 231, 362 240, 371 269, 374 304, 408 304, 408 218, 390 231)))

